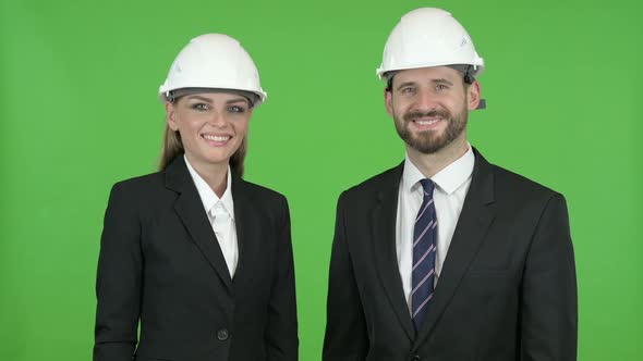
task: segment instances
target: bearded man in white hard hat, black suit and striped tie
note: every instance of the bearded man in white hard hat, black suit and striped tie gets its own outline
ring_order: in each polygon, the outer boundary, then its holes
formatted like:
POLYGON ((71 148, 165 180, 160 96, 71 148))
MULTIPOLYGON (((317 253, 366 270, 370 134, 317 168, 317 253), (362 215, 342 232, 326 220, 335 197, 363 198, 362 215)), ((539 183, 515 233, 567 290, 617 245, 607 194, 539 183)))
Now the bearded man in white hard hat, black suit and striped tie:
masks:
POLYGON ((378 75, 407 158, 339 198, 324 360, 575 360, 566 201, 468 142, 483 67, 446 11, 393 28, 378 75))

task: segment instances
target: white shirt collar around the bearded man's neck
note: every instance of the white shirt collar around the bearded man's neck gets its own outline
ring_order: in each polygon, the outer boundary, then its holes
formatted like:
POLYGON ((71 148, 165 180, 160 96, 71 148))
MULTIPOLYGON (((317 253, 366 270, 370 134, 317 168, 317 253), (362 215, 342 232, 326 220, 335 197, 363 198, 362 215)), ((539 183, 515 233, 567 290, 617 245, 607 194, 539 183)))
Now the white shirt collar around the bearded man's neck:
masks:
MULTIPOLYGON (((469 150, 464 153, 464 155, 460 157, 430 177, 430 179, 448 195, 460 188, 460 186, 462 186, 462 184, 464 184, 473 173, 475 155, 473 154, 471 145, 468 146, 469 150)), ((404 171, 402 174, 402 186, 404 189, 412 191, 414 189, 413 187, 415 187, 418 182, 424 178, 424 174, 420 172, 415 164, 413 164, 413 162, 411 162, 409 159, 409 154, 407 154, 404 159, 404 171)))

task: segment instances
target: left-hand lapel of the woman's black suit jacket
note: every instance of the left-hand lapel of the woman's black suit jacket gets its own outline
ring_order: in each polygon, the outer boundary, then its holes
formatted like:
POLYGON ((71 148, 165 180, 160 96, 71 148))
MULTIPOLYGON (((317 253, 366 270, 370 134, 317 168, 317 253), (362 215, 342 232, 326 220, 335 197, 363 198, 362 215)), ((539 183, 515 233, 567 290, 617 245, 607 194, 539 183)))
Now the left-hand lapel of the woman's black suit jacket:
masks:
POLYGON ((166 169, 166 186, 179 194, 174 202, 174 211, 228 291, 232 292, 232 278, 228 272, 226 259, 203 208, 196 186, 187 172, 183 155, 179 155, 166 169))

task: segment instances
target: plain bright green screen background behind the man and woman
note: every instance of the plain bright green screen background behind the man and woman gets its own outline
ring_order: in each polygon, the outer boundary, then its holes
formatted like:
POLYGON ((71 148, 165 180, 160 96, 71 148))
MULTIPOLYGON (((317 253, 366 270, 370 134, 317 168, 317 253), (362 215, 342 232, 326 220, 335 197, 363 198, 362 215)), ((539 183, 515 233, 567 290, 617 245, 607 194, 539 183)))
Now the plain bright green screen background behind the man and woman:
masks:
POLYGON ((227 33, 268 101, 246 179, 291 206, 301 359, 320 359, 339 192, 403 147, 375 76, 417 7, 451 11, 487 63, 470 140, 568 200, 579 360, 643 351, 641 7, 635 1, 0 1, 0 360, 88 360, 111 185, 153 172, 178 51, 227 33))

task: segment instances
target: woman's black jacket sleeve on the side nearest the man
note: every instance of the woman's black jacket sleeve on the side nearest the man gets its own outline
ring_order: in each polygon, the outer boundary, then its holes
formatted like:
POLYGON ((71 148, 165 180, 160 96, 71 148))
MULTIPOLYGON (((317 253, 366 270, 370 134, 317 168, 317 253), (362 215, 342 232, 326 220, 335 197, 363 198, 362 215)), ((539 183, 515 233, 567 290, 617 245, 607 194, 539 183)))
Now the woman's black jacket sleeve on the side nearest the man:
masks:
POLYGON ((268 360, 296 361, 299 352, 294 261, 288 201, 281 197, 278 249, 268 303, 266 329, 268 360))

